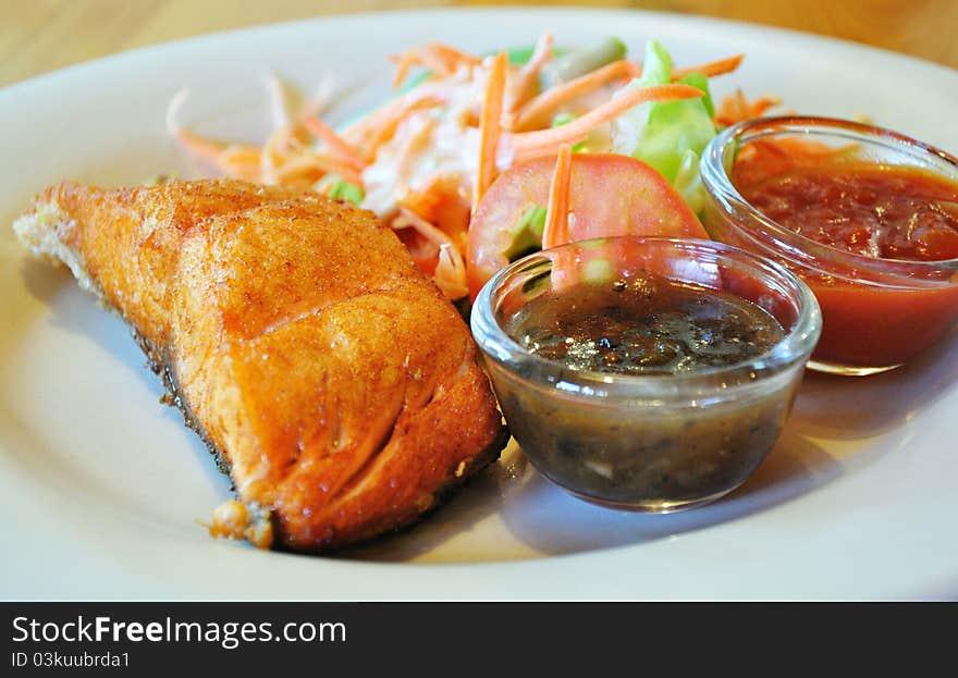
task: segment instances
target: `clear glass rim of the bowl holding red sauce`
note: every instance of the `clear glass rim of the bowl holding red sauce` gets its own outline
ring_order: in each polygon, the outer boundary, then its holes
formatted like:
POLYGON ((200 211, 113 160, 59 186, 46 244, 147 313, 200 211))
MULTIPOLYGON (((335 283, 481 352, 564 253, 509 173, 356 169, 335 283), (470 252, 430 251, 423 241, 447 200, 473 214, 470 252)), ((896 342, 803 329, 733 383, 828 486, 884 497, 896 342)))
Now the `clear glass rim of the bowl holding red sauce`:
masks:
MULTIPOLYGON (((799 235, 752 207, 732 183, 732 178, 725 170, 723 159, 733 145, 745 143, 756 137, 769 138, 776 134, 789 136, 797 134, 818 134, 820 136, 832 134, 848 139, 891 147, 910 156, 934 157, 932 162, 944 162, 950 165, 954 169, 955 176, 958 176, 958 158, 930 144, 885 127, 838 118, 779 115, 747 120, 722 131, 705 147, 701 163, 702 182, 707 193, 710 195, 710 199, 720 209, 724 210, 727 215, 734 217, 736 226, 745 231, 752 238, 756 236, 746 224, 761 224, 774 237, 777 242, 776 244, 784 246, 776 248, 776 254, 784 259, 806 268, 837 275, 838 278, 848 276, 836 273, 822 262, 834 261, 843 264, 846 269, 852 269, 858 272, 872 271, 882 276, 882 281, 862 278, 853 279, 856 282, 867 285, 925 288, 929 286, 941 287, 955 284, 951 280, 914 278, 913 273, 930 273, 942 269, 958 271, 958 258, 942 259, 939 261, 912 261, 908 259, 865 257, 823 245, 803 235, 799 235), (894 282, 888 281, 889 276, 895 279, 894 282)), ((951 178, 954 180, 954 177, 951 178)), ((762 245, 769 246, 764 242, 762 245)))

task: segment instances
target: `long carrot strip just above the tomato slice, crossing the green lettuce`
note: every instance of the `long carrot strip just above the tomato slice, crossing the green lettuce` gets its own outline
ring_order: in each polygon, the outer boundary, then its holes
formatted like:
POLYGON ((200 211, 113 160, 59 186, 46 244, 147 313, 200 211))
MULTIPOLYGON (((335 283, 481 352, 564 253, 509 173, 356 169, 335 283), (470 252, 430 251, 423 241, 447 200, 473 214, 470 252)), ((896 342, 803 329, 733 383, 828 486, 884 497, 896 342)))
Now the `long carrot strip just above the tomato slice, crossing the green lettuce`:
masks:
POLYGON ((595 126, 614 120, 630 108, 647 101, 677 101, 695 99, 702 96, 702 90, 688 85, 655 85, 653 87, 636 87, 626 89, 602 106, 598 106, 585 115, 577 118, 567 125, 523 132, 508 135, 506 141, 517 156, 543 148, 555 148, 560 144, 576 144, 595 126))

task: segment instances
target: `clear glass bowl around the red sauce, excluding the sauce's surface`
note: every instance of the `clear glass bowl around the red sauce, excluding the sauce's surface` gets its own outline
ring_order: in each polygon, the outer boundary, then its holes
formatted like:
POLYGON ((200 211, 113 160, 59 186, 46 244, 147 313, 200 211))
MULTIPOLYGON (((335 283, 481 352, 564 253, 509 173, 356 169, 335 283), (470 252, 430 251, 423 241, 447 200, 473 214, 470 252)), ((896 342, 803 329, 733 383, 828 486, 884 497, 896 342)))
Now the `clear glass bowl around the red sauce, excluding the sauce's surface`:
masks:
POLYGON ((775 259, 812 288, 822 338, 809 367, 864 375, 894 369, 944 338, 958 322, 958 259, 908 261, 816 243, 752 207, 732 181, 737 153, 758 139, 844 147, 843 160, 906 165, 958 181, 958 159, 896 132, 827 118, 764 118, 728 127, 705 148, 702 182, 709 234, 775 259))

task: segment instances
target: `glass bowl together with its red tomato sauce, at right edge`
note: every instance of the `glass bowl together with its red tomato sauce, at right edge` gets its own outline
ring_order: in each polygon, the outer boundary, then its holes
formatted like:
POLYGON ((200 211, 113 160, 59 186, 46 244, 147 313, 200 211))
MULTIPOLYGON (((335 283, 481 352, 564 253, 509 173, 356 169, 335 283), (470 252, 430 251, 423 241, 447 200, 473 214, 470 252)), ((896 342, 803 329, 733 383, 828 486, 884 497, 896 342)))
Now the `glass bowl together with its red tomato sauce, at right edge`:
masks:
POLYGON ((707 151, 707 229, 798 273, 822 308, 810 367, 899 366, 958 322, 958 161, 893 132, 750 121, 707 151))

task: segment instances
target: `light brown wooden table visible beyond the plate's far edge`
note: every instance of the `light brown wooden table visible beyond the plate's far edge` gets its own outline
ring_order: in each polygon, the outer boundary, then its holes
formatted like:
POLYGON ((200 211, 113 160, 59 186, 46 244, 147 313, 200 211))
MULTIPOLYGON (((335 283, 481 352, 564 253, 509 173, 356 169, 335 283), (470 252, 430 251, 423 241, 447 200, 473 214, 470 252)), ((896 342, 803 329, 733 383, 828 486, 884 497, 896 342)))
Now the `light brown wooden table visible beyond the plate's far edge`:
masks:
MULTIPOLYGON (((344 4, 342 0, 0 0, 0 86, 134 47, 337 13, 344 4)), ((469 4, 490 3, 351 0, 347 7, 358 12, 469 4)), ((526 0, 525 4, 536 3, 526 0)), ((955 0, 649 0, 576 4, 750 21, 857 40, 958 67, 955 0)))

